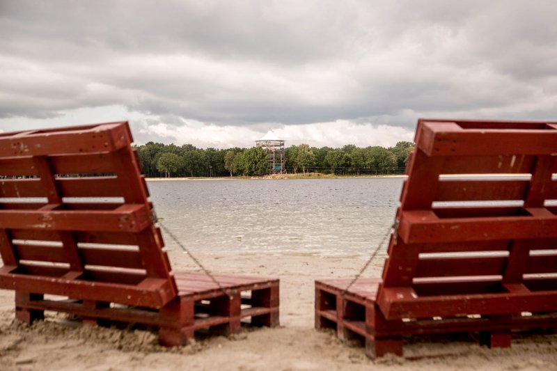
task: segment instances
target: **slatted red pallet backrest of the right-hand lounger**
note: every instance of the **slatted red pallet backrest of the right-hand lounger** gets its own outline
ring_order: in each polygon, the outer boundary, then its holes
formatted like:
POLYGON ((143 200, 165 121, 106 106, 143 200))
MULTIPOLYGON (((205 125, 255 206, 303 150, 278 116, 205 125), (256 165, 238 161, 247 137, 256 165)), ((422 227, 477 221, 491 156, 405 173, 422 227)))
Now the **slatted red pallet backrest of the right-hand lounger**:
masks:
POLYGON ((498 295, 557 290, 556 173, 557 123, 419 120, 379 290, 384 312, 505 313, 498 295), (391 306, 397 295, 407 310, 391 306), (444 307, 450 295, 485 305, 444 307))

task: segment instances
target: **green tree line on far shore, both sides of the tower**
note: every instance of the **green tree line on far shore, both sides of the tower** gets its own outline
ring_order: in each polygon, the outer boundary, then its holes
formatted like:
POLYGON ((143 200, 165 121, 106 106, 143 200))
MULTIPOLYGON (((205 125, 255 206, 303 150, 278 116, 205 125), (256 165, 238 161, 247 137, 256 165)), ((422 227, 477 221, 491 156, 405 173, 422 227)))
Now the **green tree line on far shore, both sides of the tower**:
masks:
MULTIPOLYGON (((267 154, 260 147, 196 148, 148 142, 135 146, 147 177, 223 177, 253 176, 267 173, 267 154)), ((285 149, 288 173, 385 174, 400 173, 414 143, 400 141, 394 147, 359 148, 311 147, 291 145, 285 149)))

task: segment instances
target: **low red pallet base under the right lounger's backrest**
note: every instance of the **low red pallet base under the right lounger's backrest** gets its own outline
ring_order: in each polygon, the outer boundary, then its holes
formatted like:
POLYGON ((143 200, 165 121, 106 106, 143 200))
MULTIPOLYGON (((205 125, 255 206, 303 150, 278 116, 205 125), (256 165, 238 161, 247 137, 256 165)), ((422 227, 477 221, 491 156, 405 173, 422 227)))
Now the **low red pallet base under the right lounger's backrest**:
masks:
POLYGON ((478 332, 482 345, 510 347, 511 330, 557 329, 557 313, 387 320, 375 302, 381 279, 360 279, 344 293, 350 281, 315 281, 315 328, 336 329, 341 340, 362 338, 372 359, 402 356, 403 336, 478 332))

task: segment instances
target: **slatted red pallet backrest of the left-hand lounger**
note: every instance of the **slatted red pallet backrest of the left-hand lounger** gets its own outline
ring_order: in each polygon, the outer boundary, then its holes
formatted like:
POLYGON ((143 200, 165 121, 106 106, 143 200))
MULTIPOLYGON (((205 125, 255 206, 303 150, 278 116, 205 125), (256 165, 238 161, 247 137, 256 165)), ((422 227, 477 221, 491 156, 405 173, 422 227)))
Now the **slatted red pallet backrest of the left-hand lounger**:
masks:
POLYGON ((158 308, 176 295, 127 122, 0 134, 0 287, 158 308))

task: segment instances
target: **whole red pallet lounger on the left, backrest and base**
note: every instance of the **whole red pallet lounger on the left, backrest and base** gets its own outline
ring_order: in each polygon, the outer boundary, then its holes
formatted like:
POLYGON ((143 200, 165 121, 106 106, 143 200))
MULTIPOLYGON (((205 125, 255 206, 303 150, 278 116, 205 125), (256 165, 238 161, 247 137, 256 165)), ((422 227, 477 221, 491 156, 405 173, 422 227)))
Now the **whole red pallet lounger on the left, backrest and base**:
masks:
POLYGON ((169 346, 278 325, 278 280, 171 271, 131 143, 126 122, 0 134, 0 287, 17 319, 155 325, 169 346))

